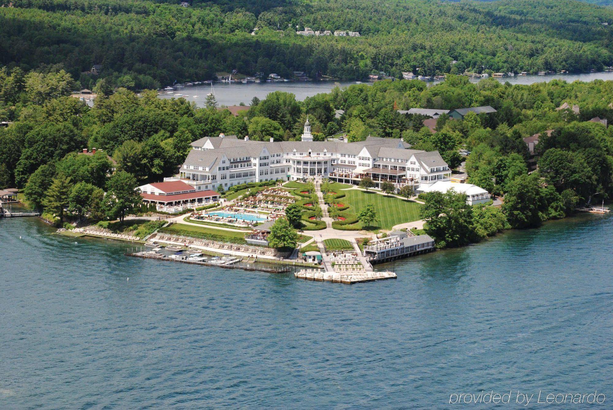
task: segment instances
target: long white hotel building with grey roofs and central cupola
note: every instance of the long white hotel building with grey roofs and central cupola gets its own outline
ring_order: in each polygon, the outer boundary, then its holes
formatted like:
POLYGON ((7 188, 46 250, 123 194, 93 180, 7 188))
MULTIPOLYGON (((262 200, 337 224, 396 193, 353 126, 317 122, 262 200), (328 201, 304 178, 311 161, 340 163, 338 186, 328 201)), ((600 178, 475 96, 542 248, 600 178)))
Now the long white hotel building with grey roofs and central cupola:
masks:
POLYGON ((365 176, 376 186, 390 181, 397 189, 416 189, 449 181, 451 170, 438 151, 411 150, 397 139, 368 137, 365 141, 316 142, 307 120, 301 141, 262 142, 220 134, 191 143, 178 178, 197 190, 215 190, 266 180, 327 177, 359 184, 365 176))

